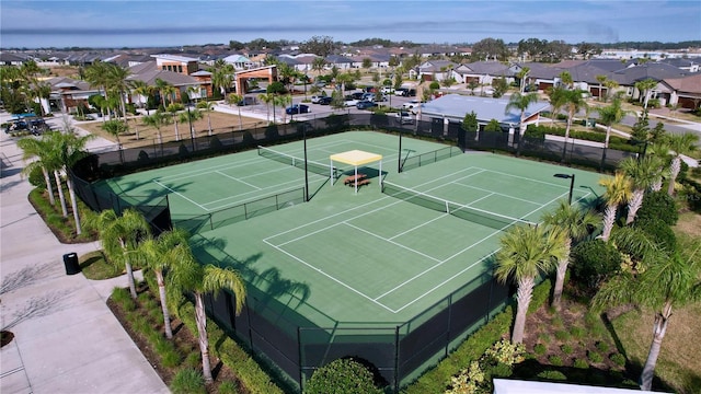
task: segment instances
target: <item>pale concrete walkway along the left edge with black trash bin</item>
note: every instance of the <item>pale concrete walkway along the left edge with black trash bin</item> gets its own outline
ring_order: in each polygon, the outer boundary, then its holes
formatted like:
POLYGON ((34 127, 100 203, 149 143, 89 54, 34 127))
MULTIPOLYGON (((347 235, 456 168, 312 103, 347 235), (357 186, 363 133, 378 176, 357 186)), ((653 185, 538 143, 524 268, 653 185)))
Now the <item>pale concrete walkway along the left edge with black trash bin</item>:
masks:
MULTIPOLYGON (((0 123, 7 117, 0 113, 0 123)), ((0 135, 0 327, 14 334, 0 350, 0 393, 168 393, 105 303, 126 279, 66 275, 64 254, 100 245, 56 240, 27 201, 21 151, 0 135)))

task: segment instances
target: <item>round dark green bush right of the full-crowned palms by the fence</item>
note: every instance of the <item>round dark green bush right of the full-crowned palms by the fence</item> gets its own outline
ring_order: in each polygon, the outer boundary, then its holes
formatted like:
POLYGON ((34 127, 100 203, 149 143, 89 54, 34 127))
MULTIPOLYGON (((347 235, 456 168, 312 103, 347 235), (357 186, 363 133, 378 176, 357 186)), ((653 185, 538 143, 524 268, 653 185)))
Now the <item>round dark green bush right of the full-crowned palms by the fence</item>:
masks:
POLYGON ((621 267, 616 247, 601 240, 585 241, 572 248, 572 277, 590 290, 621 267))

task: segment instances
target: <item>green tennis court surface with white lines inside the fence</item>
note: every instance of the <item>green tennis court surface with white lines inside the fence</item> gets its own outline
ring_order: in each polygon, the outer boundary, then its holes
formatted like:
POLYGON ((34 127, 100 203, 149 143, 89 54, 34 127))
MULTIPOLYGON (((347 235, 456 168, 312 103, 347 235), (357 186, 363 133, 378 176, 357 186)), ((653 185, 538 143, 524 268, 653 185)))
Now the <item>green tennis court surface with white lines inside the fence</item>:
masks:
MULTIPOLYGON (((443 147, 403 138, 401 158, 443 147)), ((301 141, 271 148, 303 157, 301 141)), ((566 199, 570 179, 553 174, 576 174, 574 201, 602 193, 596 173, 490 153, 397 173, 398 148, 397 136, 370 131, 308 140, 308 158, 322 169, 331 154, 363 150, 383 157, 383 173, 377 163, 359 169, 370 183, 357 194, 342 182, 352 167, 338 169, 345 174, 333 184, 323 171, 310 173, 309 202, 200 231, 195 253, 202 263, 241 271, 256 311, 322 327, 402 323, 489 271, 506 228, 537 223, 566 199)), ((114 178, 110 186, 168 194, 176 221, 299 190, 303 181, 298 165, 250 151, 114 178)))

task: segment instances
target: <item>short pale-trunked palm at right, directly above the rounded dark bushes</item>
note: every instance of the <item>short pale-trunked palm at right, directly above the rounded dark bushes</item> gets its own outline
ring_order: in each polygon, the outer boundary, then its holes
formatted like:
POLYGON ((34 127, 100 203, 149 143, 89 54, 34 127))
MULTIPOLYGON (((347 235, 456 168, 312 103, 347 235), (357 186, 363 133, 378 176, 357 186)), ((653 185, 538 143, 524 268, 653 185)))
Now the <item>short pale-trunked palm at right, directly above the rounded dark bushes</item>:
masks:
POLYGON ((625 219, 625 224, 630 224, 635 220, 635 213, 643 205, 645 192, 662 178, 662 174, 659 173, 660 166, 662 160, 653 154, 648 154, 640 160, 627 158, 618 164, 619 170, 631 179, 631 186, 633 188, 631 197, 628 200, 628 218, 625 219))

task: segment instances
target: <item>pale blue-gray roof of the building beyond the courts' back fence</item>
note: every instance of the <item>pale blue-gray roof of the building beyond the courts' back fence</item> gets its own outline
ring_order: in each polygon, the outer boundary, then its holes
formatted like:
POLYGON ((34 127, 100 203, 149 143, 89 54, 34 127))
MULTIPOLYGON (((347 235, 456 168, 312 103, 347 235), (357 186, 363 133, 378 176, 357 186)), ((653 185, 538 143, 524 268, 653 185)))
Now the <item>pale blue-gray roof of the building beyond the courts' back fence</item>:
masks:
MULTIPOLYGON (((506 105, 508 105, 508 97, 491 99, 447 94, 443 97, 425 103, 422 106, 421 112, 422 116, 434 115, 443 117, 445 115, 449 118, 462 120, 466 114, 474 111, 478 115, 478 120, 481 123, 487 123, 492 119, 496 119, 502 124, 517 125, 521 118, 520 112, 517 109, 510 109, 508 113, 505 113, 506 105)), ((550 103, 536 102, 526 109, 526 117, 530 117, 531 115, 548 108, 550 108, 550 103)))

